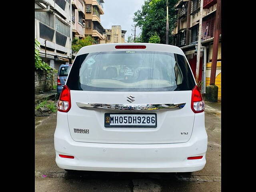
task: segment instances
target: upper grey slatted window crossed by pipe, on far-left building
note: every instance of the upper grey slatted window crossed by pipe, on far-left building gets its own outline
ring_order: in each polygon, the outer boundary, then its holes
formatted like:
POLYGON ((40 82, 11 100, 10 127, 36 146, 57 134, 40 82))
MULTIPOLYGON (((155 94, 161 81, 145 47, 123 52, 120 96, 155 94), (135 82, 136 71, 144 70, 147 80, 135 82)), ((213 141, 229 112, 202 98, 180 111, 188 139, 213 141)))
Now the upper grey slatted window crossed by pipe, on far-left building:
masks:
MULTIPOLYGON (((36 9, 42 9, 43 7, 39 6, 37 3, 35 3, 36 9)), ((35 12, 35 19, 39 20, 41 23, 54 28, 54 16, 53 14, 50 14, 50 12, 35 12)))

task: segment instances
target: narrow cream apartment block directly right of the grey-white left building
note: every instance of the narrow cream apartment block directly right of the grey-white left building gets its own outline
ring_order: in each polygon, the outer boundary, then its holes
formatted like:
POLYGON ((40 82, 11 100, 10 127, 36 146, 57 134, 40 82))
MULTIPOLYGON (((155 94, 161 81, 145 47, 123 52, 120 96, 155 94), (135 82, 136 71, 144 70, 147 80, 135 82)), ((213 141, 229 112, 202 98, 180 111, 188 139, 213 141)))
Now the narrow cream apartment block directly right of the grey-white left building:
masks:
POLYGON ((72 39, 84 38, 85 0, 71 0, 72 10, 72 39))

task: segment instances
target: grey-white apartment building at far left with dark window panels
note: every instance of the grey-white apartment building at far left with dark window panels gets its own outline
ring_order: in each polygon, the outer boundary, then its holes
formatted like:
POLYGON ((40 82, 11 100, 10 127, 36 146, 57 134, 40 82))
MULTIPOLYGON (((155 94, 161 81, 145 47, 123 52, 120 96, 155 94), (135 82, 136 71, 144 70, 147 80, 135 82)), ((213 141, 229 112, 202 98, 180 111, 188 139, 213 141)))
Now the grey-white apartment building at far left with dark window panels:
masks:
MULTIPOLYGON (((35 38, 40 57, 58 70, 71 62, 72 14, 70 0, 35 0, 35 38), (46 51, 46 56, 45 56, 46 51)), ((57 74, 55 74, 57 84, 57 74)))

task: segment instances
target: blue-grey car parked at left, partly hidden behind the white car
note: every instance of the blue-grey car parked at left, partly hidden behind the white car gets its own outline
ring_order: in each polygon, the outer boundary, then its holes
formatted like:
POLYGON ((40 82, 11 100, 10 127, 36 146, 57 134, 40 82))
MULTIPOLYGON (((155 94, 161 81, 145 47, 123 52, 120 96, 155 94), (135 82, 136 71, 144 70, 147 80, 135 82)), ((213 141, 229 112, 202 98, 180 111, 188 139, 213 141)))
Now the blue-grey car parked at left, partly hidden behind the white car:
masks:
POLYGON ((58 70, 58 80, 57 80, 57 94, 60 95, 62 88, 64 87, 68 73, 72 65, 62 64, 58 70))

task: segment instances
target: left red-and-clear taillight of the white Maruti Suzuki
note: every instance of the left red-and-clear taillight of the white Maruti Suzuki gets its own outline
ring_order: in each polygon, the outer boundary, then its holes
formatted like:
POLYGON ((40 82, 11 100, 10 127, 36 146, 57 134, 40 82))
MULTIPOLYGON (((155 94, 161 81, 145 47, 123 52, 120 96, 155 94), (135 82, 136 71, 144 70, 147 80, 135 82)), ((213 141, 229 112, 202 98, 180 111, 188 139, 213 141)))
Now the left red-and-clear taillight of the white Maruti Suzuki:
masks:
POLYGON ((58 111, 68 112, 71 108, 70 89, 64 85, 58 101, 58 111))

